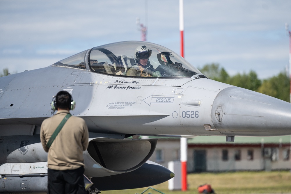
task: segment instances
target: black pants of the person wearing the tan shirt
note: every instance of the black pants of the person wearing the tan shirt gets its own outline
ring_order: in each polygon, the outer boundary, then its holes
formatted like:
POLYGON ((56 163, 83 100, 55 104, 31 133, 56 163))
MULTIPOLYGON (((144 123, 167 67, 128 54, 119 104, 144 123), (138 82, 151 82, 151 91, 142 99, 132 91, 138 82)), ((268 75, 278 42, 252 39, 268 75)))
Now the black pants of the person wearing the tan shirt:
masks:
POLYGON ((47 170, 49 194, 86 194, 84 167, 75 170, 47 170))

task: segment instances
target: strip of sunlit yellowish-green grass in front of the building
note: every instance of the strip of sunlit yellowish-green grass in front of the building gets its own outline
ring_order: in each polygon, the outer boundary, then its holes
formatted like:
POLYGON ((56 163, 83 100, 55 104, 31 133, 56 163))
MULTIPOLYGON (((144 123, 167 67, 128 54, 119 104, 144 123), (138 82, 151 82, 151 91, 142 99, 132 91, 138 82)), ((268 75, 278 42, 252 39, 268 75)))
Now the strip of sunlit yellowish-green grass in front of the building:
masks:
MULTIPOLYGON (((272 172, 223 172, 188 174, 187 191, 169 191, 168 182, 152 186, 165 194, 197 194, 197 187, 210 184, 217 194, 246 193, 291 193, 290 171, 272 172)), ((101 194, 135 194, 142 193, 147 187, 118 191, 102 191, 101 194)), ((152 189, 145 194, 159 194, 152 189)))

